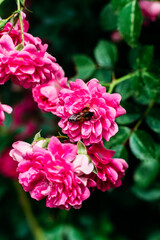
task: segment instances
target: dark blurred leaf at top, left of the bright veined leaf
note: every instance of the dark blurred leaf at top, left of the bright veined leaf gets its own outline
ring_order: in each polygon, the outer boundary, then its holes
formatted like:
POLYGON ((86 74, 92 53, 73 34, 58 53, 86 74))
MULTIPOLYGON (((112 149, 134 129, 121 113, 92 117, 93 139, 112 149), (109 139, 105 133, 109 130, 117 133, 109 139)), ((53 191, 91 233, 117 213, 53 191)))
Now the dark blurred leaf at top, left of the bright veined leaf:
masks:
POLYGON ((101 11, 100 24, 103 30, 111 31, 117 28, 117 15, 111 4, 107 4, 101 11))

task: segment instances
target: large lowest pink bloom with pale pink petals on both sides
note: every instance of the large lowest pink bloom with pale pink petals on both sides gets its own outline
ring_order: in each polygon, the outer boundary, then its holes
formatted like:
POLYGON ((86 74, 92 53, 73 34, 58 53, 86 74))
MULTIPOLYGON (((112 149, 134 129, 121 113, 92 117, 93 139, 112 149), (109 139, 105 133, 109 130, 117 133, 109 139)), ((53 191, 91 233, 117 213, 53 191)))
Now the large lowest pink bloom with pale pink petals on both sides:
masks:
POLYGON ((18 161, 20 184, 32 198, 46 197, 47 207, 80 208, 90 196, 87 174, 93 171, 93 164, 83 155, 77 159, 76 145, 62 144, 56 137, 50 139, 46 149, 43 143, 13 144, 10 155, 18 161))

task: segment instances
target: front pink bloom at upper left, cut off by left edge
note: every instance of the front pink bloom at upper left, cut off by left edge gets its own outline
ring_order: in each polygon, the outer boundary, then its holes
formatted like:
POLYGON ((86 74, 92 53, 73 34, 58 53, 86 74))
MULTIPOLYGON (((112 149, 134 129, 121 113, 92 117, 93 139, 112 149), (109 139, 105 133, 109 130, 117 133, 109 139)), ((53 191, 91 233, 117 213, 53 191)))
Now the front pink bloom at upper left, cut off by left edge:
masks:
POLYGON ((26 44, 21 50, 16 50, 10 36, 0 38, 0 84, 9 78, 24 88, 33 88, 54 78, 60 66, 56 59, 47 52, 47 44, 26 44))

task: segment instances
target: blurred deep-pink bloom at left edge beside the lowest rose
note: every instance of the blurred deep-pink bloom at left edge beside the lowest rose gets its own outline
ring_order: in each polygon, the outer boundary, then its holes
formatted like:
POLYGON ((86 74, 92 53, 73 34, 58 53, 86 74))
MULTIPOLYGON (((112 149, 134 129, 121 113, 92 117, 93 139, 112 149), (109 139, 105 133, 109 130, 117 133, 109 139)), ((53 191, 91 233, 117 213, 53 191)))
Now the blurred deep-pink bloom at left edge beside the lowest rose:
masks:
POLYGON ((5 149, 0 154, 0 173, 4 177, 17 179, 18 173, 16 172, 18 163, 9 156, 10 148, 5 149))

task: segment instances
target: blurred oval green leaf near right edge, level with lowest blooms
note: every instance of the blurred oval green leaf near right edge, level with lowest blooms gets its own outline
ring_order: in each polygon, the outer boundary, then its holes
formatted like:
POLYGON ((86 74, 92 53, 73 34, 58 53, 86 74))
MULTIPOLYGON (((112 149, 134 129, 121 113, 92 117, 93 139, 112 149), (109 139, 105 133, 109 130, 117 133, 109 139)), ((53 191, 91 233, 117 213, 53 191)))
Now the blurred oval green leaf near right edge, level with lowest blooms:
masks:
POLYGON ((134 181, 140 188, 147 188, 159 172, 159 162, 152 160, 143 162, 134 173, 134 181))

